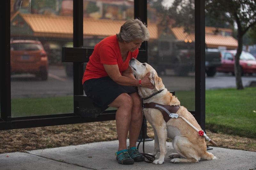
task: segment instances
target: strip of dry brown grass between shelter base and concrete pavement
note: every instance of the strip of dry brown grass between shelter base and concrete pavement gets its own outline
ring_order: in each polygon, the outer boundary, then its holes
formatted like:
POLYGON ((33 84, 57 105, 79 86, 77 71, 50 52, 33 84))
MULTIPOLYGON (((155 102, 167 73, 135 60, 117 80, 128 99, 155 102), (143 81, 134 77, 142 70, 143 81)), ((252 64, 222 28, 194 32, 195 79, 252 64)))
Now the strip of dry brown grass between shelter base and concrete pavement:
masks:
MULTIPOLYGON (((154 138, 148 123, 147 135, 154 138)), ((219 147, 256 152, 256 139, 212 133, 207 135, 219 147)), ((26 152, 68 145, 117 140, 115 121, 0 131, 0 153, 26 152)), ((207 142, 209 146, 211 144, 207 142)))

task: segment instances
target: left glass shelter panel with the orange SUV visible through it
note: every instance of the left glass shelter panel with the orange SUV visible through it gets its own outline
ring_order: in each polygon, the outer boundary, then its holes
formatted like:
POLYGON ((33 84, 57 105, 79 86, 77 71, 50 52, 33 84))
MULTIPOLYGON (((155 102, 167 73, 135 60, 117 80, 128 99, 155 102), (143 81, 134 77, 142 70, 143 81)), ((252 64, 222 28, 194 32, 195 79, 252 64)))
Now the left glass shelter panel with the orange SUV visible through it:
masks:
POLYGON ((74 112, 73 79, 61 63, 72 42, 72 0, 11 0, 12 117, 74 112))

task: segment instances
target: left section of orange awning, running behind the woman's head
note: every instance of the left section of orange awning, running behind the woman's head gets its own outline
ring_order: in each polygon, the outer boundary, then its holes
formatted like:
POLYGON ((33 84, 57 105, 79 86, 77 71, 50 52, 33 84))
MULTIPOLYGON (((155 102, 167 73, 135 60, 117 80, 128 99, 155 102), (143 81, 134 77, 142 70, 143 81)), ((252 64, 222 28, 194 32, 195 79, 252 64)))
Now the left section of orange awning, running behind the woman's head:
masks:
MULTIPOLYGON (((20 14, 31 27, 34 36, 73 37, 73 17, 20 14)), ((125 21, 84 18, 84 36, 111 36, 119 33, 125 21)), ((149 24, 150 39, 157 39, 156 24, 149 24)))

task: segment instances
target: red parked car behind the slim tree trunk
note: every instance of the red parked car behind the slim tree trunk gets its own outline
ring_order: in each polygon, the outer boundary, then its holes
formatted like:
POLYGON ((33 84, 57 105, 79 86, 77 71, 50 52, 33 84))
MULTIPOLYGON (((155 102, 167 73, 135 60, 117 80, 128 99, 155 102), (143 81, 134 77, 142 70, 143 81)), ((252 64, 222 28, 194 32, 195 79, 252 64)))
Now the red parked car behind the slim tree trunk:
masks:
MULTIPOLYGON (((231 72, 233 75, 235 75, 234 63, 235 63, 236 50, 223 51, 221 54, 222 54, 222 58, 221 58, 222 65, 218 67, 217 70, 221 72, 231 72)), ((242 51, 240 55, 239 63, 240 63, 242 75, 244 73, 248 73, 249 75, 256 73, 256 59, 252 54, 242 51)))

